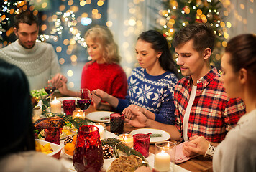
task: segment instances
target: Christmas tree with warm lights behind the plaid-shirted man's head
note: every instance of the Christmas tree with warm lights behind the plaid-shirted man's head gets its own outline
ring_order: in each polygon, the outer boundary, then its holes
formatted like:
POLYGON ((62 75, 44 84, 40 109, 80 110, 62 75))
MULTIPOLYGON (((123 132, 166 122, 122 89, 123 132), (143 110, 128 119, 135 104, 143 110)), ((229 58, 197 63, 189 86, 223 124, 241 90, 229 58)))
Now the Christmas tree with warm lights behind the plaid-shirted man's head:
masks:
MULTIPOLYGON (((187 24, 209 23, 216 34, 216 47, 212 54, 211 65, 220 68, 220 57, 223 47, 226 47, 227 28, 220 15, 222 7, 220 0, 163 0, 165 9, 160 11, 162 18, 160 32, 172 43, 175 34, 187 24)), ((173 47, 171 47, 174 52, 173 47)), ((175 53, 173 53, 175 54, 175 53)), ((178 70, 178 72, 180 72, 178 70)))

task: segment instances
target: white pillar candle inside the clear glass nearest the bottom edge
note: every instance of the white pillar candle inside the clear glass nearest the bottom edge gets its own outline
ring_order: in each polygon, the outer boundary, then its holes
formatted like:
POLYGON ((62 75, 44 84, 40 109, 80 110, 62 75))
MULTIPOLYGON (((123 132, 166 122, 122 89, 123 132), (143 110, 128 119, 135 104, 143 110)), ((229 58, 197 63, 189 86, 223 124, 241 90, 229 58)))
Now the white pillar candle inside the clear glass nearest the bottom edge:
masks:
POLYGON ((170 155, 165 152, 160 152, 155 155, 155 169, 157 171, 170 170, 170 155))

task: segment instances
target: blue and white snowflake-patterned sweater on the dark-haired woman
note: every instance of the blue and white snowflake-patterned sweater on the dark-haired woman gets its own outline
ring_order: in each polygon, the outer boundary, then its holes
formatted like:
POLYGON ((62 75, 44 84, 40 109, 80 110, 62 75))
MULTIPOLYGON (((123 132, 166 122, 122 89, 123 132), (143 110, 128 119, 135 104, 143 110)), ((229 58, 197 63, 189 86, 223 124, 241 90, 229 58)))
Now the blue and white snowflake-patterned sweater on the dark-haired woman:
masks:
POLYGON ((122 112, 134 104, 155 113, 156 121, 175 125, 173 92, 177 82, 172 72, 152 76, 142 67, 137 67, 128 78, 127 96, 119 99, 116 111, 122 112))

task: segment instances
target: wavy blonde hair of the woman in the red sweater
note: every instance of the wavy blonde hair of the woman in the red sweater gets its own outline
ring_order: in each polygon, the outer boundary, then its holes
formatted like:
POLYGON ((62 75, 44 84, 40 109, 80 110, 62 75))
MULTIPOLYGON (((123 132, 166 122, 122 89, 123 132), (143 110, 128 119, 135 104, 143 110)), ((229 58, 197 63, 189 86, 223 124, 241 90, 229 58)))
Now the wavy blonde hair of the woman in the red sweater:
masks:
POLYGON ((84 35, 85 39, 88 36, 90 36, 94 42, 97 42, 101 45, 103 58, 105 59, 106 63, 119 64, 119 49, 116 42, 114 42, 113 34, 111 34, 107 27, 96 25, 86 32, 84 35))

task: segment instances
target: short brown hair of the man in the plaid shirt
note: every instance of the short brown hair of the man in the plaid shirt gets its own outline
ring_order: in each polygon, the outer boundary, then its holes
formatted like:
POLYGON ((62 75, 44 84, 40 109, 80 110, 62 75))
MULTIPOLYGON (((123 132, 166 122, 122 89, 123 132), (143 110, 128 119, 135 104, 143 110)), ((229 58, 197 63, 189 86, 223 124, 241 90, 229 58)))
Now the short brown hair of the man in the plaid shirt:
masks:
POLYGON ((184 44, 193 39, 193 49, 202 52, 206 48, 214 51, 215 34, 209 24, 188 24, 175 35, 173 39, 173 47, 184 44))

